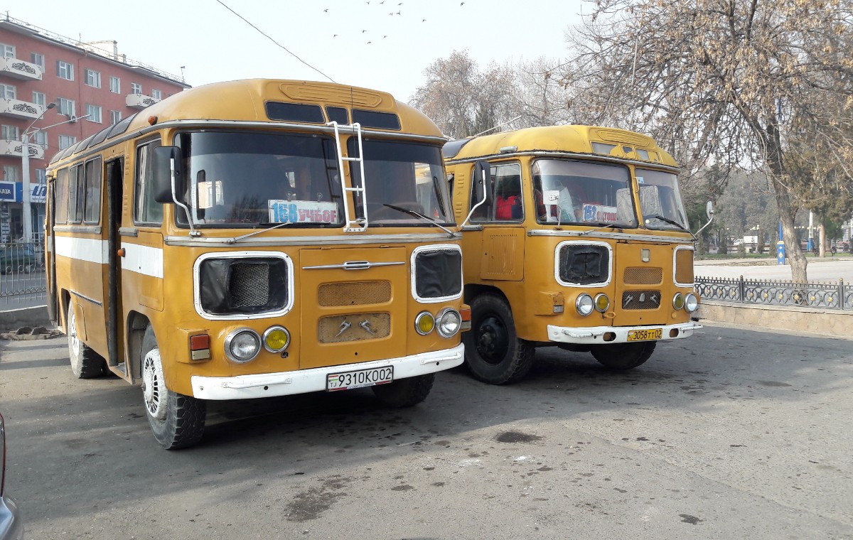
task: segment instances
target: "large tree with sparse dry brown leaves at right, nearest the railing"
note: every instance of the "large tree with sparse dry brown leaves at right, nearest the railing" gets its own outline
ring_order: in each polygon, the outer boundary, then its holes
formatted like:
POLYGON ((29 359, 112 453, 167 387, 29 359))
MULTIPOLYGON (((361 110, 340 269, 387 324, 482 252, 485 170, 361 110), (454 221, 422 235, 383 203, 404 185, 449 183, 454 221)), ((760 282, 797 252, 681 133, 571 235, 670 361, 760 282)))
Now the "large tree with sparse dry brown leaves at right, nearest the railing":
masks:
POLYGON ((851 8, 850 0, 597 0, 569 37, 572 107, 589 123, 653 134, 688 172, 763 169, 793 279, 806 281, 783 154, 792 119, 810 119, 850 182, 853 147, 824 108, 840 101, 849 115, 853 107, 851 8))

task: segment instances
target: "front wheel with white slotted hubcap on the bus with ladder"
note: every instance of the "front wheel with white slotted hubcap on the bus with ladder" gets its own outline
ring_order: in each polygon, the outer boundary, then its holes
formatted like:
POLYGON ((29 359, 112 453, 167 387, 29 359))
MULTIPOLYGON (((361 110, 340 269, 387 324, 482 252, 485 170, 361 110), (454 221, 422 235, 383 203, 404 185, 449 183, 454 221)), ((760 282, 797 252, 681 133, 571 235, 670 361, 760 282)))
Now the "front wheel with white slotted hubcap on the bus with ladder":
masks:
POLYGON ((142 400, 148 425, 165 450, 198 443, 205 432, 207 407, 203 399, 172 392, 165 386, 160 348, 154 329, 146 328, 140 351, 142 400))

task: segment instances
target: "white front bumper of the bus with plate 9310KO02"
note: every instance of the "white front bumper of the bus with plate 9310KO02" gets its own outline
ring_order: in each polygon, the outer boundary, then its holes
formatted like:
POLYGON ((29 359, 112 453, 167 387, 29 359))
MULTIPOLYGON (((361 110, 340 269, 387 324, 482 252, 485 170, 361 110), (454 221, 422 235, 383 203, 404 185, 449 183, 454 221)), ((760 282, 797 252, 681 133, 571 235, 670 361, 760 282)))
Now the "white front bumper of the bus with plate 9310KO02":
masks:
POLYGON ((455 368, 465 358, 465 345, 452 349, 422 352, 410 357, 388 358, 374 362, 346 363, 324 368, 300 369, 281 373, 237 375, 235 377, 201 377, 191 379, 193 397, 200 399, 252 399, 290 396, 326 390, 326 376, 345 371, 393 366, 394 380, 427 375, 455 368))

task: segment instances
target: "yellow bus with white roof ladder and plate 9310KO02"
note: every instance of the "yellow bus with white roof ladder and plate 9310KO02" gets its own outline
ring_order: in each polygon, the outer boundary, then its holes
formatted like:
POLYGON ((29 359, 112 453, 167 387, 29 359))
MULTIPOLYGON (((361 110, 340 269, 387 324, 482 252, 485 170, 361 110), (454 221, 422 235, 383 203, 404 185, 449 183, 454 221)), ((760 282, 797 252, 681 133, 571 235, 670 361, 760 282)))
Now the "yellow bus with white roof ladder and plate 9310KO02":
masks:
POLYGON ((251 79, 61 151, 49 309, 74 375, 140 384, 166 449, 199 441, 207 400, 421 402, 470 324, 444 142, 384 92, 251 79))

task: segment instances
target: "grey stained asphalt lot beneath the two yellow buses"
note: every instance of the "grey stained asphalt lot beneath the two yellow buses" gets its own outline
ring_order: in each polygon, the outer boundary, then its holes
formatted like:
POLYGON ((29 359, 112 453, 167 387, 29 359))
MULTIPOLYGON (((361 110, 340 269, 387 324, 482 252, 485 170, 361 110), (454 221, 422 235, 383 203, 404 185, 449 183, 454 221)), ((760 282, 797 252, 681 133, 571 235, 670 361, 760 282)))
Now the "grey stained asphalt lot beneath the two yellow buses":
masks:
POLYGON ((850 538, 850 340, 709 326, 628 373, 545 349, 513 386, 439 374, 214 403, 160 450, 138 387, 65 340, 0 342, 26 538, 850 538))

